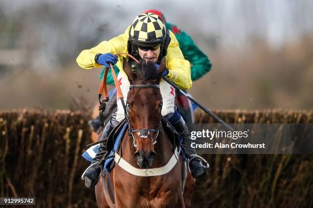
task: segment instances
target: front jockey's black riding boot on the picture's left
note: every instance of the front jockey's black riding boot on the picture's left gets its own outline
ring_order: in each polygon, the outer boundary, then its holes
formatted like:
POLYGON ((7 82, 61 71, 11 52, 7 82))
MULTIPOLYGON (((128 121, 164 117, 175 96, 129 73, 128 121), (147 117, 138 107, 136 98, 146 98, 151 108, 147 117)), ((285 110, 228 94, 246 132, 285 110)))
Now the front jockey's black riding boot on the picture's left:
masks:
MULTIPOLYGON (((107 140, 110 132, 113 130, 115 126, 117 126, 118 123, 119 122, 115 119, 115 117, 111 117, 111 119, 109 120, 109 122, 106 124, 104 128, 101 140, 107 140)), ((82 175, 82 177, 85 180, 85 186, 89 189, 94 188, 95 185, 99 181, 100 173, 101 173, 99 162, 103 158, 106 152, 107 152, 106 141, 104 141, 100 143, 97 154, 95 155, 95 158, 92 160, 91 166, 89 166, 82 175)))

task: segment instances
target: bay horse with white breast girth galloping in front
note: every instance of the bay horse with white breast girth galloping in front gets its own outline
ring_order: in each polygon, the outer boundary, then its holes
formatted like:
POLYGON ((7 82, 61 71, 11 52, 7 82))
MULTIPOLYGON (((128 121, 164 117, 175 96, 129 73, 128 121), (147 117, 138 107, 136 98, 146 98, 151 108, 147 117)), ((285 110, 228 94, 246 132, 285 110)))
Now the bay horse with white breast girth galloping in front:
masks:
MULTIPOLYGON (((130 128, 133 137, 126 130, 117 153, 131 166, 142 170, 163 167, 173 155, 172 143, 160 122, 162 96, 159 84, 165 69, 165 58, 158 69, 151 62, 141 61, 136 72, 123 60, 123 70, 130 83, 126 102, 127 128, 130 128)), ((183 194, 183 168, 180 155, 168 173, 158 176, 133 175, 115 164, 110 173, 103 177, 111 181, 114 201, 108 195, 109 188, 100 179, 95 189, 98 206, 191 207, 195 179, 188 172, 183 194)))

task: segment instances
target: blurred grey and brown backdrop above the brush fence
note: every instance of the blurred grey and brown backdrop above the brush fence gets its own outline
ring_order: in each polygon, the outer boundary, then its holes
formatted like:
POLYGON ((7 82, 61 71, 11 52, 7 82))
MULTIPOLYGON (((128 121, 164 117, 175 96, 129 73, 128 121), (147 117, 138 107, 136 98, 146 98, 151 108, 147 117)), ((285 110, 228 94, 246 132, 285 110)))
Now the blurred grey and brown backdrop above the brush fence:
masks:
POLYGON ((212 70, 189 92, 210 109, 312 109, 313 2, 0 2, 0 109, 69 109, 97 101, 100 69, 81 50, 123 33, 136 15, 161 10, 208 55, 212 70))

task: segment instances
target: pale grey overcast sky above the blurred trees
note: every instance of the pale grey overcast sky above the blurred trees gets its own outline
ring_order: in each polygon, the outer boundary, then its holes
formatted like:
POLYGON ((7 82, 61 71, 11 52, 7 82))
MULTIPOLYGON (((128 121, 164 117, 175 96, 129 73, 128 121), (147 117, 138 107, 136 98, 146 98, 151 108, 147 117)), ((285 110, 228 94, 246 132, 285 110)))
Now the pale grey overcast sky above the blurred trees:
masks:
POLYGON ((103 38, 122 33, 137 14, 151 8, 162 10, 169 22, 191 36, 216 36, 221 45, 240 46, 253 34, 279 47, 302 33, 312 33, 313 28, 313 1, 305 0, 15 0, 14 4, 4 0, 2 5, 10 14, 42 2, 63 10, 66 7, 64 11, 72 16, 72 27, 80 27, 82 32, 105 24, 110 32, 103 38), (83 18, 91 18, 93 24, 82 24, 83 18))

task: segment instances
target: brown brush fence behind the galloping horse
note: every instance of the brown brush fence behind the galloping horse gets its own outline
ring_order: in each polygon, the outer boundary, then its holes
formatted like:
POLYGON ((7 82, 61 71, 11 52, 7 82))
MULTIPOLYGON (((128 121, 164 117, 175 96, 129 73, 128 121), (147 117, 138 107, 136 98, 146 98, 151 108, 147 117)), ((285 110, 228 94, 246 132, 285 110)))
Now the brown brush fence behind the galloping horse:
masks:
MULTIPOLYGON (((313 123, 312 111, 214 113, 229 123, 313 123)), ((214 122, 203 112, 199 123, 214 122)), ((91 142, 88 115, 42 110, 0 111, 0 197, 36 197, 38 207, 95 207, 80 175, 91 142)), ((312 155, 204 155, 209 176, 197 180, 194 207, 311 207, 312 155)))

